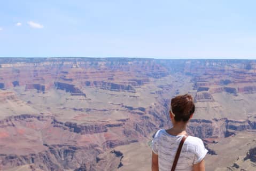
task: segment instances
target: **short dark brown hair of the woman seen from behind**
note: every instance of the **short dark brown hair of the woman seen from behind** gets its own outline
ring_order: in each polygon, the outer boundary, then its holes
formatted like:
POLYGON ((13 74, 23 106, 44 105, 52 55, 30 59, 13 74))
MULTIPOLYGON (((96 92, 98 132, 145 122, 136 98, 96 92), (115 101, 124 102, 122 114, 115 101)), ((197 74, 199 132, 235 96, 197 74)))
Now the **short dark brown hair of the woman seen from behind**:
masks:
POLYGON ((170 105, 172 112, 175 114, 175 121, 187 122, 190 116, 195 112, 195 104, 191 95, 185 94, 174 97, 170 105))

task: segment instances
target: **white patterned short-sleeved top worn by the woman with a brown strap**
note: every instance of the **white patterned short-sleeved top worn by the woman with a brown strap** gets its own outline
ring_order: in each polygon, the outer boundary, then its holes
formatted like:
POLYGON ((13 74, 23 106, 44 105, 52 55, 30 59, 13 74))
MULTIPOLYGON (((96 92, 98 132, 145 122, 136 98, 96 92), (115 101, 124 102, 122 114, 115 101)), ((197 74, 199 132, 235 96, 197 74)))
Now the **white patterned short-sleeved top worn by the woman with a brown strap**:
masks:
MULTIPOLYGON (((173 161, 184 135, 173 136, 165 129, 157 131, 152 140, 151 149, 158 154, 159 171, 170 171, 173 161)), ((199 163, 205 158, 208 150, 205 149, 203 141, 200 138, 188 136, 185 140, 179 160, 175 170, 191 171, 194 164, 199 163)))

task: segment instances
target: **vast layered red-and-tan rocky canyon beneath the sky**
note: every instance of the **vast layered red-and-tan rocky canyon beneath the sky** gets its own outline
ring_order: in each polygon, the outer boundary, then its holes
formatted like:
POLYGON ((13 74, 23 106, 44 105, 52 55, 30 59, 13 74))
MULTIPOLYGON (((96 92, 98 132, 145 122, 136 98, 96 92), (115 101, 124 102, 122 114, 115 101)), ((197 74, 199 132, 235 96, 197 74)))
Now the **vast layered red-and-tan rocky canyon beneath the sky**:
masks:
POLYGON ((0 170, 149 170, 187 93, 206 170, 254 170, 256 60, 0 58, 0 170))

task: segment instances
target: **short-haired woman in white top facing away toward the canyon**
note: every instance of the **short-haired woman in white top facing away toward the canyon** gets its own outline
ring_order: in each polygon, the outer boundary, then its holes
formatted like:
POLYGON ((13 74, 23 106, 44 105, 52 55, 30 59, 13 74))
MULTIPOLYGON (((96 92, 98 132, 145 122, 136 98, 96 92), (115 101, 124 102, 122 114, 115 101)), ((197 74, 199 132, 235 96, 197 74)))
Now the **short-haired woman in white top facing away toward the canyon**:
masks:
MULTIPOLYGON (((195 112, 195 104, 190 95, 176 96, 171 101, 171 129, 160 129, 151 144, 152 171, 170 171, 183 136, 187 135, 186 127, 195 112)), ((188 136, 181 149, 175 170, 204 171, 205 149, 200 138, 188 136)))

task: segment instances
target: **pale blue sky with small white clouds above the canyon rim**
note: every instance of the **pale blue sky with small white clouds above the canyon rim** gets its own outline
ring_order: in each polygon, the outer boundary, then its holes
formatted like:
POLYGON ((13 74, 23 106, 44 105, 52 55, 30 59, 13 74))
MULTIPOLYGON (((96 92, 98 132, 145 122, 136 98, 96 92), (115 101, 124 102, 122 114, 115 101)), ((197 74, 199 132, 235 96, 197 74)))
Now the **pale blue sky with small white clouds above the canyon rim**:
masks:
POLYGON ((256 59, 256 1, 0 1, 1 57, 256 59))

